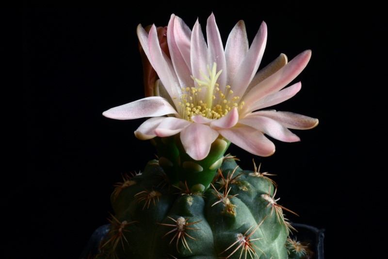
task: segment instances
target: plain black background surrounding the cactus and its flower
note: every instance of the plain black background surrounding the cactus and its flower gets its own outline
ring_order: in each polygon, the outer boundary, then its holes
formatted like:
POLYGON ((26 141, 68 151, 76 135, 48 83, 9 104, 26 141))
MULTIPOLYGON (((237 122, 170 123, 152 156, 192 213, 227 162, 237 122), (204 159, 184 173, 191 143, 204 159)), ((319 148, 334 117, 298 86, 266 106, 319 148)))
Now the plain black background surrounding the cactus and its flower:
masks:
POLYGON ((27 141, 19 157, 25 169, 11 173, 11 188, 3 196, 10 227, 5 258, 78 258, 94 229, 107 223, 110 194, 121 173, 139 172, 155 157, 154 147, 133 135, 144 119, 101 115, 144 95, 136 26, 167 25, 174 13, 191 28, 198 17, 204 29, 211 12, 224 44, 240 19, 250 42, 260 23, 267 23, 260 68, 280 53, 291 60, 312 50, 307 68, 295 79, 302 90, 274 108, 318 118, 319 125, 294 131, 301 142, 274 140, 270 157, 233 144, 229 152, 241 159, 243 169, 253 169, 254 158, 262 172, 277 174, 278 203, 300 215, 288 213, 288 218, 325 229, 325 258, 379 255, 375 235, 387 226, 382 220, 386 200, 380 196, 385 117, 377 114, 384 111, 387 86, 379 79, 386 73, 382 7, 327 1, 185 4, 53 8, 24 3, 20 95, 27 141))

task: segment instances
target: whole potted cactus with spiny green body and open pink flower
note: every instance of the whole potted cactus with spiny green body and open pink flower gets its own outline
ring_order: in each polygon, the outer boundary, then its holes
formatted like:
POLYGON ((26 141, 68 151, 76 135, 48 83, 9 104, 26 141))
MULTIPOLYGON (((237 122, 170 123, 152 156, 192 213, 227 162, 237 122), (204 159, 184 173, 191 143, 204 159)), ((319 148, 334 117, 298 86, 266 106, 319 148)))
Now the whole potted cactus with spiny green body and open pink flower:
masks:
POLYGON ((110 231, 96 258, 301 259, 309 253, 290 238, 293 227, 284 212, 294 212, 276 203, 272 174, 255 164, 254 171, 242 170, 226 150, 233 143, 269 156, 275 145, 265 135, 299 141, 289 129, 318 124, 300 114, 262 110, 300 90, 300 82, 284 87, 306 67, 311 51, 290 62, 281 54, 257 72, 267 39, 264 22, 250 47, 243 21, 225 49, 213 14, 206 32, 207 42, 198 21, 190 30, 175 15, 164 28, 137 28, 146 98, 103 115, 151 117, 135 136, 150 139, 158 159, 116 185, 110 231))

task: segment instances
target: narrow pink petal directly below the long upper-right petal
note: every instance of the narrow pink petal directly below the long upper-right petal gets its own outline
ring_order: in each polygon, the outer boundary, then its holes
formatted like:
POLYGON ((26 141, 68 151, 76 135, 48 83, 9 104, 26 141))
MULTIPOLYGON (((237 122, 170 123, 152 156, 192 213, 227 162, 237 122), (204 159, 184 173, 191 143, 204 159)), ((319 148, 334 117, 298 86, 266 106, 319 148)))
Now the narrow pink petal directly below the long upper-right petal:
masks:
MULTIPOLYGON (((250 105, 249 110, 245 110, 245 114, 248 114, 252 111, 267 108, 276 104, 283 103, 284 101, 287 101, 291 97, 293 97, 295 94, 297 94, 302 87, 302 84, 300 82, 293 84, 292 86, 289 86, 287 88, 284 88, 278 92, 272 93, 270 95, 265 96, 264 98, 261 98, 257 100, 254 104, 250 105)), ((245 115, 242 114, 242 117, 245 115)))

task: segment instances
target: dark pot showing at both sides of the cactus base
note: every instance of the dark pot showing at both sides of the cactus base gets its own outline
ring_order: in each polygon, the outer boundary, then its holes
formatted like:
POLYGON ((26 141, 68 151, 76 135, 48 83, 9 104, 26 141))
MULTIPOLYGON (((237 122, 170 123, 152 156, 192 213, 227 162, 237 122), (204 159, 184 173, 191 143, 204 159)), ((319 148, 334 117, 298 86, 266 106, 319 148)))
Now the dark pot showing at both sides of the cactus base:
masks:
MULTIPOLYGON (((310 249, 313 252, 311 259, 324 259, 323 258, 323 238, 324 229, 318 229, 316 227, 291 223, 291 225, 297 230, 293 232, 292 238, 296 238, 297 241, 310 244, 310 249)), ((109 224, 98 227, 90 237, 86 246, 84 247, 79 259, 92 258, 98 254, 98 243, 108 234, 109 224)))

